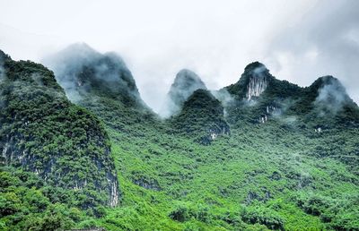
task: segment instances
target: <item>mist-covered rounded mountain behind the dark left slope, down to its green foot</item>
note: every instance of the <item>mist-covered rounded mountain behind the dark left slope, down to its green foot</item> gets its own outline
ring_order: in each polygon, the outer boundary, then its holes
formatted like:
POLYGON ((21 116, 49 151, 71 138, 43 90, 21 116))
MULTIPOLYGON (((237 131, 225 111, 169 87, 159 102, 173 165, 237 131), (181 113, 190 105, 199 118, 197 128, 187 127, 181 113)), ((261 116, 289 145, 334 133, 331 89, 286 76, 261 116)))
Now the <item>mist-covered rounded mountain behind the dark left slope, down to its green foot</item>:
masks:
POLYGON ((117 131, 141 133, 133 125, 153 122, 152 110, 144 104, 132 73, 118 55, 74 44, 44 62, 75 104, 90 109, 117 131))

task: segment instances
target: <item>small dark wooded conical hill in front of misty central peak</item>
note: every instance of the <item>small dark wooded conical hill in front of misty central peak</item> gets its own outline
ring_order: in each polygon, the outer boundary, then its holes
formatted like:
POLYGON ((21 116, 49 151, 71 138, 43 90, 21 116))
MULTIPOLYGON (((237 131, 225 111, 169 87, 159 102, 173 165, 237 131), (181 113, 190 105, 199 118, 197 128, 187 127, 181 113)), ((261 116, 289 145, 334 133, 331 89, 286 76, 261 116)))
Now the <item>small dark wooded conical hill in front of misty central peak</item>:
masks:
POLYGON ((194 135, 203 144, 230 133, 221 102, 208 90, 195 90, 184 102, 180 114, 172 117, 171 123, 181 133, 194 135))

